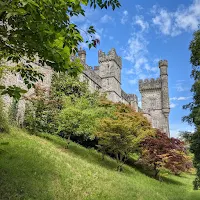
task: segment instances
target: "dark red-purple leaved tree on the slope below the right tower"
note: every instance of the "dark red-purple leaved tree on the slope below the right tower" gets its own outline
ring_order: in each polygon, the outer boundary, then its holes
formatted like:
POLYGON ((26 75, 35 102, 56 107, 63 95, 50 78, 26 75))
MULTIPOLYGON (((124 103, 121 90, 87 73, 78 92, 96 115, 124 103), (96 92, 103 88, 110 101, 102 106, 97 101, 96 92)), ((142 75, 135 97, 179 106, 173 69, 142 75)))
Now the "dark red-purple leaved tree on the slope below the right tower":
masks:
POLYGON ((154 137, 147 137, 141 142, 141 150, 141 161, 153 169, 155 178, 160 179, 159 173, 163 167, 174 174, 180 174, 191 168, 184 142, 169 138, 159 130, 154 137))

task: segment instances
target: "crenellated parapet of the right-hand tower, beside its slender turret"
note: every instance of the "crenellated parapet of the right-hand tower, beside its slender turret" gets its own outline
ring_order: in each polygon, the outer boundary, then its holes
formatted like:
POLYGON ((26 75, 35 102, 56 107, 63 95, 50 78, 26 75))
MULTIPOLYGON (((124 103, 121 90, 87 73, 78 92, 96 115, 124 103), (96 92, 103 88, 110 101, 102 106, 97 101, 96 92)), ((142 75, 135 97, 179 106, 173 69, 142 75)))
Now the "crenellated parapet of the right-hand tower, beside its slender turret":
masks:
POLYGON ((139 80, 139 91, 161 89, 162 82, 160 78, 139 80))

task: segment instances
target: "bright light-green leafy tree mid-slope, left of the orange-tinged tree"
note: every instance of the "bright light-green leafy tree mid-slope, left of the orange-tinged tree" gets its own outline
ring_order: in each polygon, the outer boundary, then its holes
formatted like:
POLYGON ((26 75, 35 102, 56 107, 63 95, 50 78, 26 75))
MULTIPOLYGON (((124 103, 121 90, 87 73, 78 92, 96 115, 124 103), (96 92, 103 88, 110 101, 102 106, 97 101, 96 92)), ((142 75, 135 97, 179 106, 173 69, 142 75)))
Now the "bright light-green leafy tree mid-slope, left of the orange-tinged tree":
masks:
POLYGON ((81 135, 84 140, 94 139, 99 119, 108 112, 99 106, 98 94, 88 92, 78 98, 74 95, 66 97, 58 116, 58 133, 68 139, 72 135, 81 135))

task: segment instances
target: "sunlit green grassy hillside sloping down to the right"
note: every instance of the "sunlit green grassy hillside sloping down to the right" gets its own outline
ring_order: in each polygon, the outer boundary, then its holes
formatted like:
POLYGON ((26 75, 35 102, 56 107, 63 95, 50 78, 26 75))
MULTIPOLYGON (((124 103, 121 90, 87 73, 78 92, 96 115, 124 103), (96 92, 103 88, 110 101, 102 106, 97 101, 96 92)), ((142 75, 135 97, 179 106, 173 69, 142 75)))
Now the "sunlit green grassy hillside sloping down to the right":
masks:
POLYGON ((151 179, 56 136, 42 138, 21 130, 0 135, 0 199, 199 200, 193 176, 151 179))

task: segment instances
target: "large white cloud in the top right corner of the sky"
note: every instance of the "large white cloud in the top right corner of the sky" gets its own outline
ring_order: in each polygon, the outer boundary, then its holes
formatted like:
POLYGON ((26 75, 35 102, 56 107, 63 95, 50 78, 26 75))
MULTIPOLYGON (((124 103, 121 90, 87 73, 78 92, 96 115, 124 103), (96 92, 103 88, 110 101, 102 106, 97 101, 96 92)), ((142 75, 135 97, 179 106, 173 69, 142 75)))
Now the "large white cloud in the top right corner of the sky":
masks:
POLYGON ((195 31, 200 24, 200 0, 188 7, 179 6, 175 12, 153 6, 152 22, 164 35, 177 36, 183 31, 195 31))

